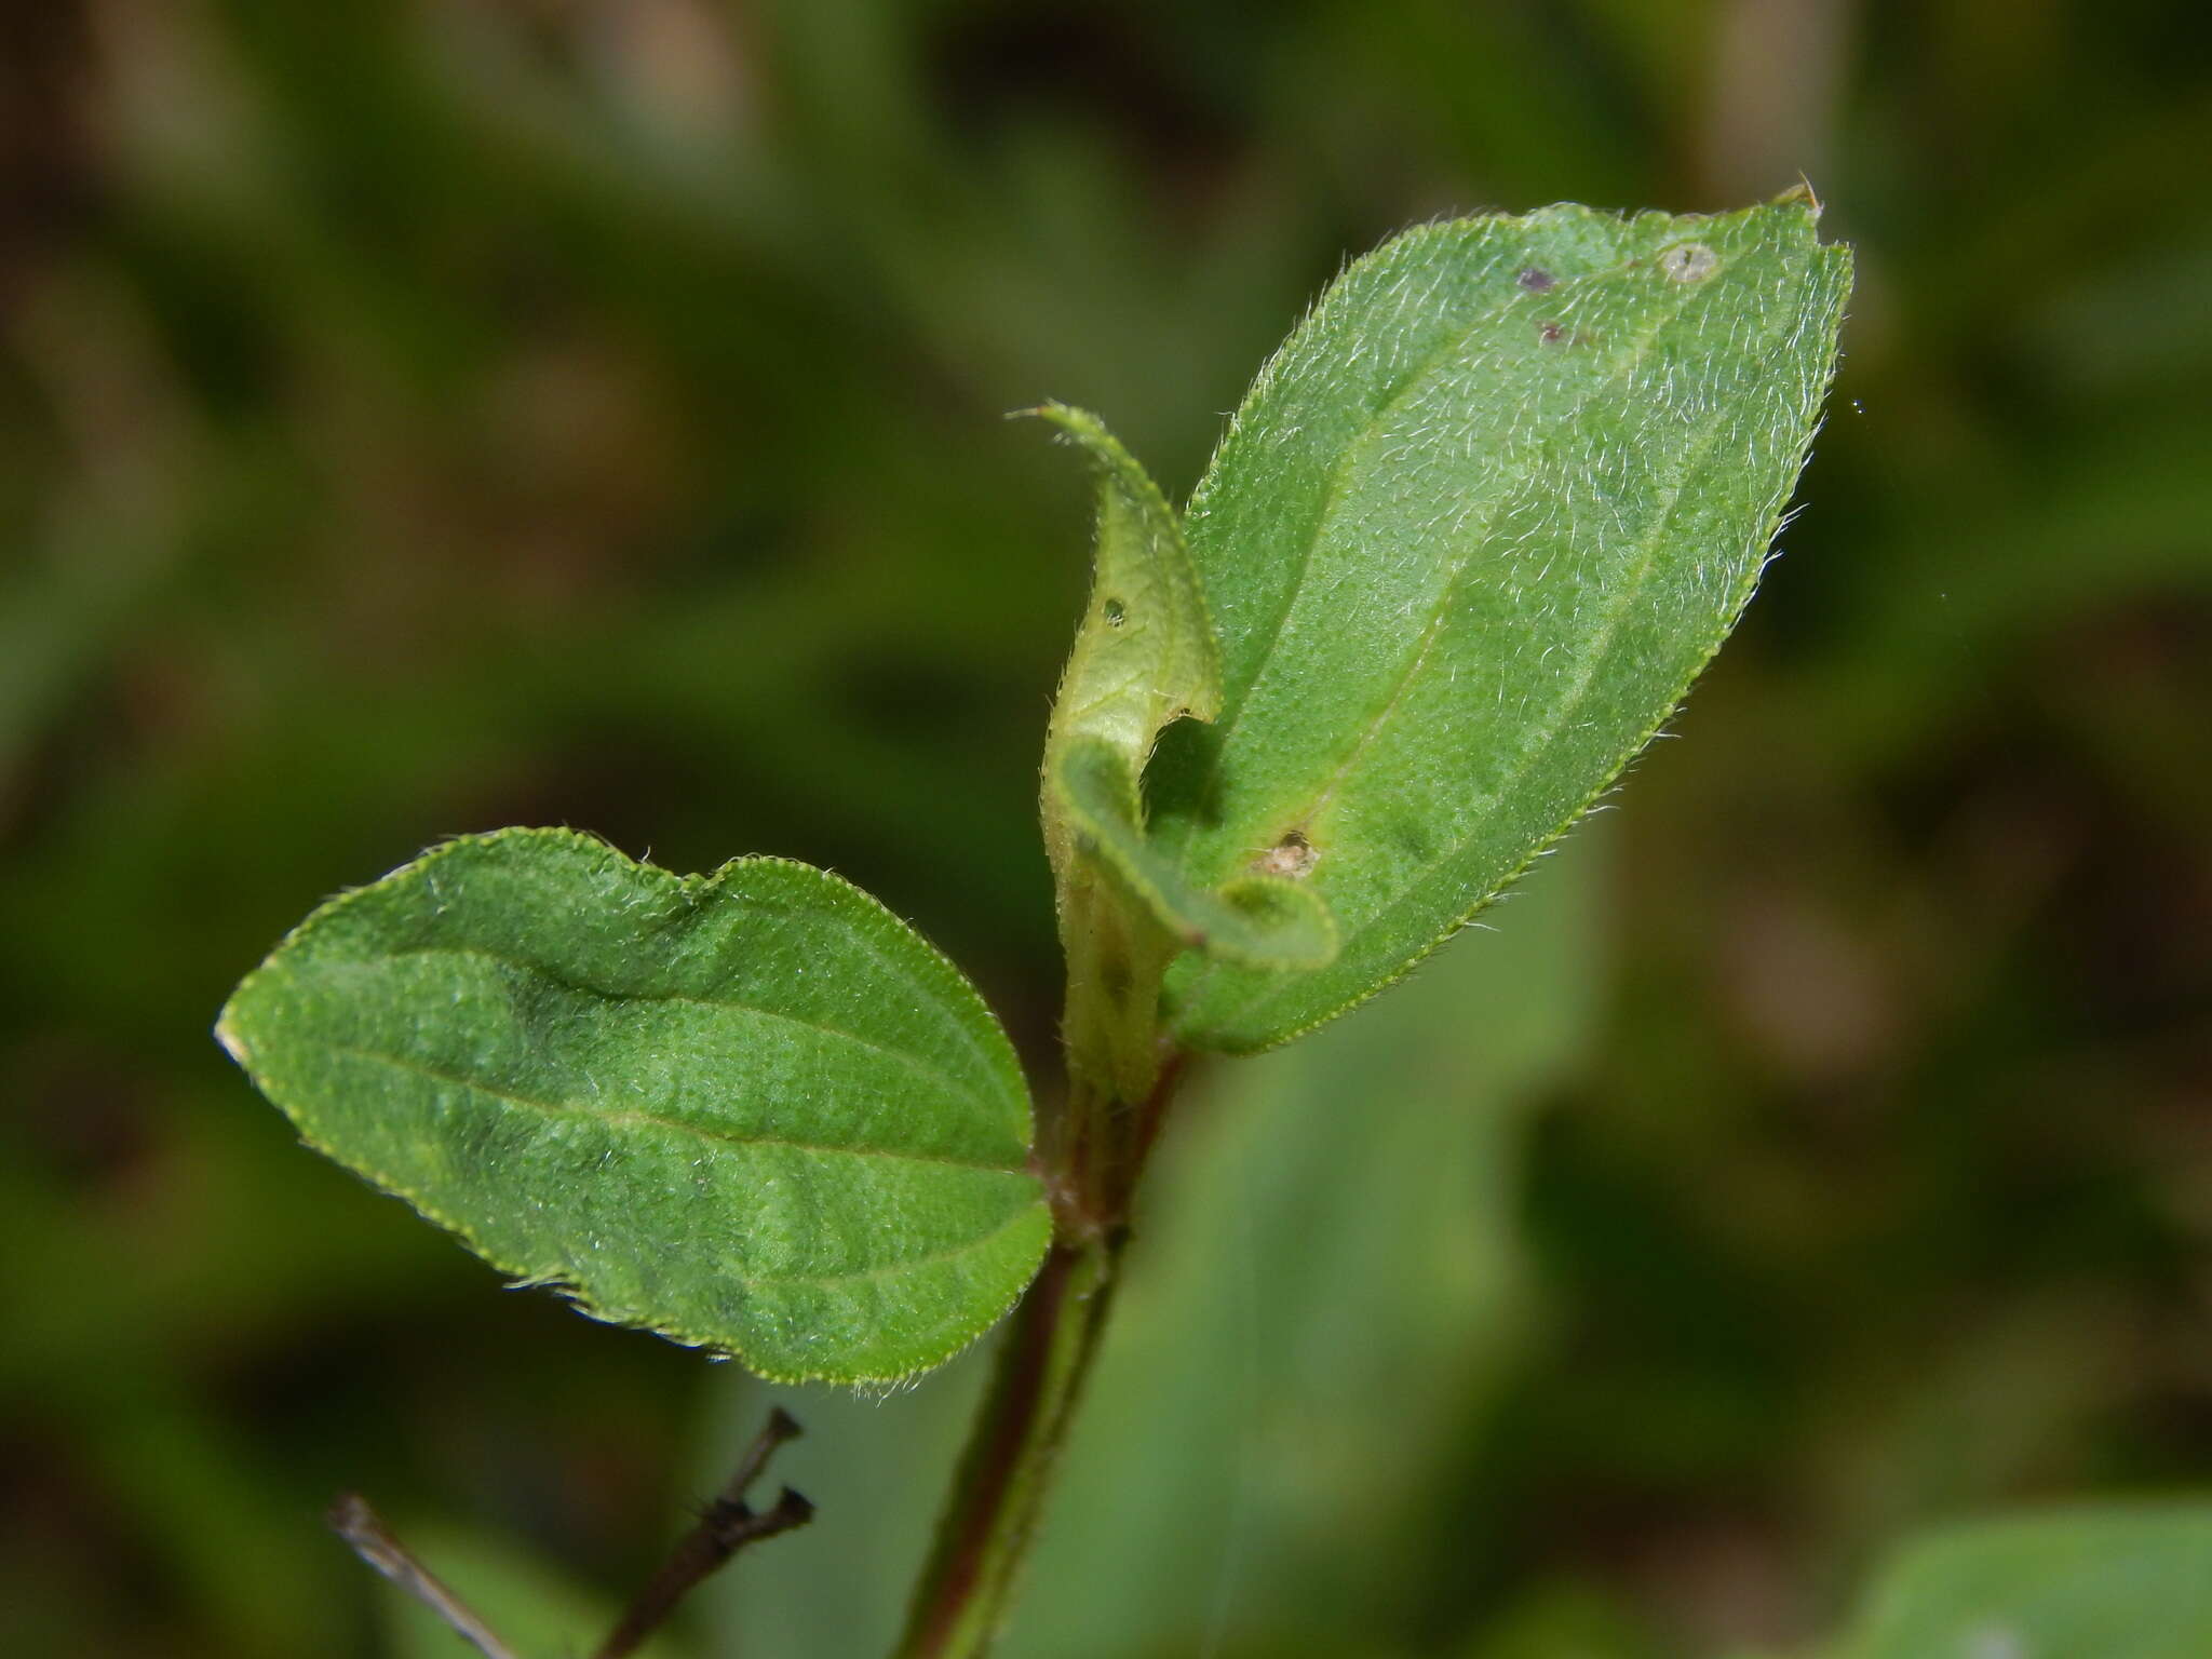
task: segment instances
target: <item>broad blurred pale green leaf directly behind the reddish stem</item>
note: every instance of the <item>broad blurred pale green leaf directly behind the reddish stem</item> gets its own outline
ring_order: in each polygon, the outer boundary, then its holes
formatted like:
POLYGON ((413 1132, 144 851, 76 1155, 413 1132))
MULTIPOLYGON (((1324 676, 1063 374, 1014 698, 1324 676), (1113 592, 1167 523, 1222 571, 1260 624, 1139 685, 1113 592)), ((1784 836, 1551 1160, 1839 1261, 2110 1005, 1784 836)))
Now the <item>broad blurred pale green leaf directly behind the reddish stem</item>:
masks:
MULTIPOLYGON (((1593 1046, 1610 874, 1606 836, 1577 836, 1383 1006, 1186 1073, 1006 1659, 1347 1659, 1413 1606, 1407 1540, 1467 1531, 1438 1447, 1489 1420, 1540 1329, 1522 1146, 1593 1046)), ((834 1524, 708 1588, 732 1652, 894 1646, 984 1358, 883 1402, 776 1396, 807 1425, 776 1471, 834 1524)), ((765 1407, 717 1394, 695 1462, 734 1462, 765 1407)))

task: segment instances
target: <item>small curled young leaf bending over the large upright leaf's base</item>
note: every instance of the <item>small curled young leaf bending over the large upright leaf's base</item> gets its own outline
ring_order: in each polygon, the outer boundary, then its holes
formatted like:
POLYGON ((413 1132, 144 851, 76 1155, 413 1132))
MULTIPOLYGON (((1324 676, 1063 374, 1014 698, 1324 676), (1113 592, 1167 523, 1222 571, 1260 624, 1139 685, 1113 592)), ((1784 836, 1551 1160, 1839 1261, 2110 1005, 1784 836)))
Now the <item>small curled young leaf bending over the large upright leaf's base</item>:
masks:
POLYGON ((1062 745, 1057 765, 1053 783, 1077 847, 1095 854, 1179 945, 1265 969, 1314 969, 1336 953, 1329 914, 1287 876, 1239 876, 1219 891, 1190 887, 1146 841, 1137 779, 1115 748, 1079 737, 1062 745))

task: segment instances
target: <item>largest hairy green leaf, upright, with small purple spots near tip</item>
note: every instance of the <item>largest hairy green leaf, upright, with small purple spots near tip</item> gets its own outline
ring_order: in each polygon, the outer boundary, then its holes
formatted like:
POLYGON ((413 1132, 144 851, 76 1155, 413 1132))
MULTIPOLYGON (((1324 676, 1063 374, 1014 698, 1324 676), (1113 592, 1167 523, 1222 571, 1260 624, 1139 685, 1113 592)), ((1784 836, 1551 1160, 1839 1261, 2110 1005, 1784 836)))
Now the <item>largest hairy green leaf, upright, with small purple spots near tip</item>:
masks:
POLYGON ((1759 580, 1849 257, 1803 195, 1413 230, 1323 294, 1186 515, 1217 726, 1152 763, 1192 887, 1296 854, 1303 975, 1186 958, 1170 1026, 1252 1051, 1402 975, 1672 712, 1759 580))

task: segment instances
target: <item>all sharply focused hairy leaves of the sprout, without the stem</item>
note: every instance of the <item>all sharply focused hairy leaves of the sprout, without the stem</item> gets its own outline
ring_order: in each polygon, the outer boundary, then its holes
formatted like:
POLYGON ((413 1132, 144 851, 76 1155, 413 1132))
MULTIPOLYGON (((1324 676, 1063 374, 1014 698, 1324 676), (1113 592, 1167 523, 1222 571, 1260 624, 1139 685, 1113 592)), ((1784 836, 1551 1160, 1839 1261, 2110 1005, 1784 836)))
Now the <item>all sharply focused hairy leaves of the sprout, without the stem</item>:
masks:
MULTIPOLYGON (((1046 849, 1071 978, 1102 933, 1150 956, 1124 1031, 1250 1053, 1345 1011, 1648 741, 1818 420, 1849 257, 1814 219, 1402 234, 1285 341, 1181 520, 1097 420, 1042 411, 1099 469, 1046 849)), ((1071 1064, 1126 1091, 1113 1029, 1071 1029, 1071 1064)), ((929 1369, 1051 1239, 973 987, 781 858, 467 836, 310 916, 217 1031, 307 1141, 504 1272, 772 1378, 929 1369)))

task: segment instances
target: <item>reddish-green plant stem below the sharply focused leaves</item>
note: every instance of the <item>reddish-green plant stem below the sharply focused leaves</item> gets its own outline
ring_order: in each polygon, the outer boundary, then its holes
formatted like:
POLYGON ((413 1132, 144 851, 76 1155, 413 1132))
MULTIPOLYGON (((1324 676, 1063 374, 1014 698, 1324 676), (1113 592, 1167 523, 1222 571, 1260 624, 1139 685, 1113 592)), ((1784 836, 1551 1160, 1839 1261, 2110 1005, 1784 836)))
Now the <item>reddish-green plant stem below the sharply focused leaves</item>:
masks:
POLYGON ((1139 1106, 1077 1088, 1064 1119, 1068 1139, 1046 1139, 1060 1237, 1006 1321, 894 1659, 982 1659, 1006 1621, 1106 1332, 1128 1203, 1179 1071, 1170 1060, 1139 1106))

